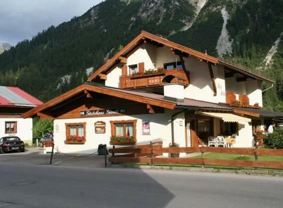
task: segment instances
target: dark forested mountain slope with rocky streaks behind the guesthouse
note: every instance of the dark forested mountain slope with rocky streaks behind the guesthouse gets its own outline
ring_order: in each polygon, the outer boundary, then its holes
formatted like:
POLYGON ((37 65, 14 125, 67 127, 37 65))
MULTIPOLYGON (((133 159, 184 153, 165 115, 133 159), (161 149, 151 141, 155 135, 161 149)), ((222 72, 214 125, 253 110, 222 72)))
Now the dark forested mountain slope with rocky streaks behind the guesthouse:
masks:
POLYGON ((85 69, 96 70, 143 29, 276 79, 264 98, 281 109, 282 7, 283 0, 106 0, 0 55, 0 85, 46 101, 86 81, 85 69))

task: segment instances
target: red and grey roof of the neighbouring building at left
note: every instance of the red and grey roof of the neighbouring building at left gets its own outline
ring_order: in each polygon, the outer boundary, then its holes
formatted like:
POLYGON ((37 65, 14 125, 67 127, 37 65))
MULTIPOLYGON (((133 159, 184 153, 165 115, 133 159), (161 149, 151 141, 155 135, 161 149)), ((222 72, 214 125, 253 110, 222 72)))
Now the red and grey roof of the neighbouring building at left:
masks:
POLYGON ((36 107, 40 104, 43 103, 19 88, 0 86, 0 106, 36 107))

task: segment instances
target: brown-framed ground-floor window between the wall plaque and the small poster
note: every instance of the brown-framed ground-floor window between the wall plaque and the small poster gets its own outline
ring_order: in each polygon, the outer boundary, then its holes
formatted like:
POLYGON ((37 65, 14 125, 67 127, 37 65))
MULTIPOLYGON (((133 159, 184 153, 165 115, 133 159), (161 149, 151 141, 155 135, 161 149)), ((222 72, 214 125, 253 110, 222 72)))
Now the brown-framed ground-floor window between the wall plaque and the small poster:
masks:
POLYGON ((137 120, 116 120, 110 121, 112 136, 134 136, 137 135, 137 120))

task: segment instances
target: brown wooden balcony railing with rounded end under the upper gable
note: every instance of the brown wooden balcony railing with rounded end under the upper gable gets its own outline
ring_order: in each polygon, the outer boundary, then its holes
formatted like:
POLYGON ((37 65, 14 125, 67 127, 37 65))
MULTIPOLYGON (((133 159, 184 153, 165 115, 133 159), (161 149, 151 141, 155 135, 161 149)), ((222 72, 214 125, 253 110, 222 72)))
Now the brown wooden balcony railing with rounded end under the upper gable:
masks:
POLYGON ((151 74, 142 73, 135 76, 120 77, 120 88, 123 89, 156 87, 168 83, 189 85, 189 72, 170 69, 151 74))

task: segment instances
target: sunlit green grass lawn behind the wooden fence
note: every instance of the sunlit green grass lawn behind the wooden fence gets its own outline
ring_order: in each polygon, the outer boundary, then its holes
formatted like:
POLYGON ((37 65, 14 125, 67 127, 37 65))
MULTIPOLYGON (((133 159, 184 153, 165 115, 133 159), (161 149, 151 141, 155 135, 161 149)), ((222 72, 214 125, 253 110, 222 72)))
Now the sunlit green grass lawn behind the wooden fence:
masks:
MULTIPOLYGON (((195 156, 192 158, 201 158, 201 156, 195 156)), ((227 160, 255 160, 255 156, 246 155, 245 158, 240 158, 239 155, 226 154, 226 153, 205 153, 204 158, 210 159, 227 159, 227 160)), ((283 161, 283 156, 258 156, 259 161, 283 161)))

